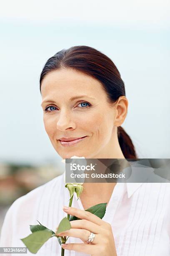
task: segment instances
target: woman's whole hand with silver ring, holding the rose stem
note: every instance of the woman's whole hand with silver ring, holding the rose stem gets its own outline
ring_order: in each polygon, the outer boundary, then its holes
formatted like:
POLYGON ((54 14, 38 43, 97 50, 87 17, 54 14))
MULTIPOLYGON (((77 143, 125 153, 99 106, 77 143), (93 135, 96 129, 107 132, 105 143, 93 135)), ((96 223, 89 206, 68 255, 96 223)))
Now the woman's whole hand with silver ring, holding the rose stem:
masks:
POLYGON ((84 243, 66 243, 62 244, 62 248, 92 256, 117 256, 112 228, 109 223, 90 212, 74 207, 63 207, 63 210, 81 220, 72 220, 70 230, 57 235, 80 238, 84 243), (95 234, 95 238, 92 243, 87 243, 91 232, 95 234))

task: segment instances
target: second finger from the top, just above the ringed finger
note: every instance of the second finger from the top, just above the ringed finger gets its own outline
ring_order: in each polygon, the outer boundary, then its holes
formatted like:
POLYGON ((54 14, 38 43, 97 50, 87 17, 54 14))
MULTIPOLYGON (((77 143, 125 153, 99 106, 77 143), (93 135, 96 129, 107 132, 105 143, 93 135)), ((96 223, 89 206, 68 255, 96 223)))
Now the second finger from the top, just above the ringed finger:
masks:
POLYGON ((89 220, 72 220, 70 221, 70 225, 72 228, 86 229, 95 234, 101 233, 100 226, 95 223, 92 223, 89 220))

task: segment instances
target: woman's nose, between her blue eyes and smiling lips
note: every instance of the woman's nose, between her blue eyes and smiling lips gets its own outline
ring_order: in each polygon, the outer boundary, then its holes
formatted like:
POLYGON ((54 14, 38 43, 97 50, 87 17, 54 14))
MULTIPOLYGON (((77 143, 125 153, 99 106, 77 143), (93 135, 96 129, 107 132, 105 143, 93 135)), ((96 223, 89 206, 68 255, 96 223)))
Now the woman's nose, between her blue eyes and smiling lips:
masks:
POLYGON ((57 129, 60 131, 75 129, 75 122, 72 120, 70 112, 60 112, 59 119, 57 120, 57 129))

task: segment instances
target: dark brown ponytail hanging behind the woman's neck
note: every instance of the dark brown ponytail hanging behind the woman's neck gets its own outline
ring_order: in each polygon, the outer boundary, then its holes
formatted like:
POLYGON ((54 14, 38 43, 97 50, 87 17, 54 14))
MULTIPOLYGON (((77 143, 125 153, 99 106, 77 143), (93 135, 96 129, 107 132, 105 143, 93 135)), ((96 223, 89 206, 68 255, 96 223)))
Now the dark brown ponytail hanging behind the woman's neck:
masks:
POLYGON ((130 136, 125 132, 125 130, 121 126, 117 127, 117 136, 120 148, 125 158, 138 158, 130 136))

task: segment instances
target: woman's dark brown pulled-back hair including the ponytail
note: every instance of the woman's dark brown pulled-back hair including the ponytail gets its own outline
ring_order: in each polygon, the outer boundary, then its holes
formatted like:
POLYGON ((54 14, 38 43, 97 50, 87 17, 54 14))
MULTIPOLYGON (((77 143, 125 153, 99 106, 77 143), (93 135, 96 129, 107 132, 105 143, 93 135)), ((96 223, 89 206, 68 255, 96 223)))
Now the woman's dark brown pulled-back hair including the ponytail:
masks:
MULTIPOLYGON (((40 91, 42 79, 52 70, 60 68, 75 69, 97 79, 102 84, 109 102, 116 102, 120 96, 125 96, 125 84, 115 64, 105 54, 92 47, 73 46, 58 51, 48 59, 40 75, 40 91)), ((125 158, 137 158, 131 138, 121 126, 117 127, 117 136, 125 158)))

